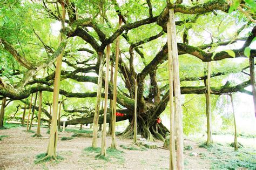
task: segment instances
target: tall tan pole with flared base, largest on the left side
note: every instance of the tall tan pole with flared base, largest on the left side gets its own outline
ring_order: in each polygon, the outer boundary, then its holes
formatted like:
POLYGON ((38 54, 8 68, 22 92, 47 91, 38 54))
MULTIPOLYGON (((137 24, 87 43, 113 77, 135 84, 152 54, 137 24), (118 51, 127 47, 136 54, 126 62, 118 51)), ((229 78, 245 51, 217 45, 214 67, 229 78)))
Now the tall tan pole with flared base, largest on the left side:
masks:
MULTIPOLYGON (((65 4, 61 2, 62 5, 62 28, 64 28, 65 23, 65 4)), ((62 41, 65 35, 60 33, 59 43, 62 41)), ((62 56, 63 52, 57 57, 56 70, 55 70, 55 79, 54 79, 54 89, 53 89, 53 110, 52 110, 52 123, 50 130, 50 140, 47 148, 47 156, 53 157, 56 159, 56 148, 57 148, 57 114, 58 114, 58 100, 59 100, 59 86, 60 86, 60 72, 62 69, 62 56)))

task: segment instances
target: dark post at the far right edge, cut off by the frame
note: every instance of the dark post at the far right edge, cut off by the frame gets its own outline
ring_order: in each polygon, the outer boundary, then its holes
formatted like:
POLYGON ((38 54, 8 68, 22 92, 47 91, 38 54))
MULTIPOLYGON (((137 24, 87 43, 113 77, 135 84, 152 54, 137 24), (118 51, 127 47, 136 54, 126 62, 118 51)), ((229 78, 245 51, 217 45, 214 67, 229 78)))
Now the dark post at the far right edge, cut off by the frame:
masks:
POLYGON ((252 85, 252 97, 253 97, 253 104, 254 104, 254 117, 256 119, 256 90, 255 90, 255 73, 254 73, 254 56, 250 56, 249 58, 250 64, 250 79, 252 85))

